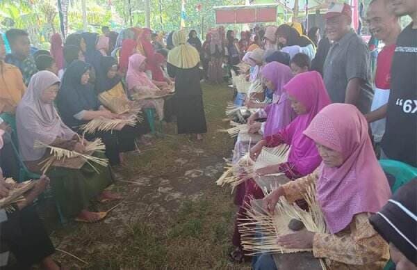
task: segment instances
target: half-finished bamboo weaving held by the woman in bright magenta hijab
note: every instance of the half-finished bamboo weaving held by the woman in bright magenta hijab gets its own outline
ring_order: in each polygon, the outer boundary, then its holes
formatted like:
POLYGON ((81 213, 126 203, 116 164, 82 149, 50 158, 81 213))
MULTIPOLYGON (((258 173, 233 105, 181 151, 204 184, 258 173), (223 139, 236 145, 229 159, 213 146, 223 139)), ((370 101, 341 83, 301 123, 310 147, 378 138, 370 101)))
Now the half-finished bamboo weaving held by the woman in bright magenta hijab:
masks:
MULTIPOLYGON (((224 186, 230 184, 232 192, 238 186, 250 178, 256 177, 256 170, 264 168, 270 165, 278 165, 288 160, 290 146, 279 145, 276 148, 263 148, 261 154, 253 161, 249 153, 245 154, 236 164, 230 162, 224 167, 226 171, 216 181, 218 186, 224 186)), ((273 174, 274 176, 281 175, 282 173, 273 174)))

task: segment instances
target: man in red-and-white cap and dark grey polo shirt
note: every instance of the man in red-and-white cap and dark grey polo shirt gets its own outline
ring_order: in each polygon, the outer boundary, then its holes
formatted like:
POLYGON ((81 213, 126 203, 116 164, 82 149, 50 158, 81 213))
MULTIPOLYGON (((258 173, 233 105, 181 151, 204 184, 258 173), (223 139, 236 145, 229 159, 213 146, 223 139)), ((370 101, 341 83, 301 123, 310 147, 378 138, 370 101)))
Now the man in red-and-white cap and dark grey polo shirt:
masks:
POLYGON ((332 102, 349 103, 362 113, 370 111, 369 50, 352 27, 352 8, 331 3, 326 15, 326 34, 333 45, 327 54, 323 75, 332 102))

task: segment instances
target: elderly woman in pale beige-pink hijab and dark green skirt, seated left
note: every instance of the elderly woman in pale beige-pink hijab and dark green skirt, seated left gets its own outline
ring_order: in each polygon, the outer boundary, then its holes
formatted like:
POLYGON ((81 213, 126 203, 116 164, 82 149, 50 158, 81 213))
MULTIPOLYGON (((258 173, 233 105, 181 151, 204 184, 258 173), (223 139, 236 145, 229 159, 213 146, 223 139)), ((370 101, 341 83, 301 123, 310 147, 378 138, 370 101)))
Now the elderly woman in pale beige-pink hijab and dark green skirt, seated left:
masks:
MULTIPOLYGON (((40 162, 48 157, 45 148, 33 148, 36 141, 77 152, 84 150, 79 136, 63 123, 55 109, 54 100, 59 84, 55 74, 38 72, 32 77, 22 102, 17 106, 19 150, 26 166, 35 172, 40 171, 40 162)), ((104 218, 103 213, 88 211, 93 198, 99 201, 117 198, 104 191, 112 182, 108 168, 100 168, 96 174, 88 164, 81 169, 54 166, 48 175, 64 216, 76 216, 76 221, 95 222, 104 218)))

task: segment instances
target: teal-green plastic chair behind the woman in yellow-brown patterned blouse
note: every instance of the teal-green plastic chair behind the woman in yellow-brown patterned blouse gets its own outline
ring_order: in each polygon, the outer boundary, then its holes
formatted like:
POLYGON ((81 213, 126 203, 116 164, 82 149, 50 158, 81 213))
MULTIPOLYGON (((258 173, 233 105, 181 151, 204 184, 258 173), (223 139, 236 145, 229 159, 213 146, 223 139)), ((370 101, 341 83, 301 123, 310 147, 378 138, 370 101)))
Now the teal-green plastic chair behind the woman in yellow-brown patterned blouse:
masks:
MULTIPOLYGON (((392 159, 381 159, 379 160, 379 164, 382 166, 384 172, 395 177, 395 183, 391 188, 393 193, 402 185, 407 184, 409 181, 417 177, 417 168, 403 162, 392 159)), ((384 270, 393 269, 395 269, 395 264, 392 260, 389 260, 389 262, 386 263, 384 270)))

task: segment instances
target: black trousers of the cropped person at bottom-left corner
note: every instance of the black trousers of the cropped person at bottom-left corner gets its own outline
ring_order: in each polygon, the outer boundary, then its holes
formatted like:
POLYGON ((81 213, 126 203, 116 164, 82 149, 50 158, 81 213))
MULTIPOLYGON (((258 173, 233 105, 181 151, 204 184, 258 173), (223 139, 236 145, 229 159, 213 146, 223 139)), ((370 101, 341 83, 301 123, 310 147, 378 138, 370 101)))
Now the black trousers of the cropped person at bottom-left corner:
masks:
POLYGON ((30 269, 45 257, 54 254, 55 248, 40 220, 35 207, 8 214, 8 221, 0 223, 0 245, 16 257, 19 268, 30 269))

